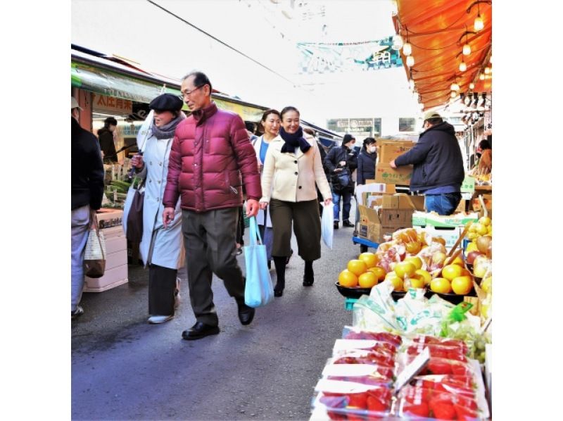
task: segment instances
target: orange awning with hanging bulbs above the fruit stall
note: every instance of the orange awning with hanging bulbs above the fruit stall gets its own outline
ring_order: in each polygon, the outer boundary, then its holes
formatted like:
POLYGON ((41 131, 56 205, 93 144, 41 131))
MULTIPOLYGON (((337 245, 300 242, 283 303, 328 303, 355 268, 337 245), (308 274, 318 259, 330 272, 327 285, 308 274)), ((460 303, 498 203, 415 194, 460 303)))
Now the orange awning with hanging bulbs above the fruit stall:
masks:
POLYGON ((475 84, 472 92, 491 92, 491 74, 484 74, 492 53, 491 4, 484 0, 397 0, 393 23, 403 42, 411 44, 415 64, 409 68, 403 51, 401 56, 425 110, 445 105, 453 82, 460 85, 459 92, 468 92, 470 82, 475 84), (476 32, 478 14, 484 26, 476 32), (462 54, 466 41, 471 47, 467 56, 462 54), (462 59, 467 65, 464 71, 460 71, 462 59))

